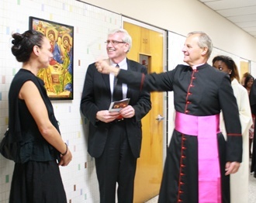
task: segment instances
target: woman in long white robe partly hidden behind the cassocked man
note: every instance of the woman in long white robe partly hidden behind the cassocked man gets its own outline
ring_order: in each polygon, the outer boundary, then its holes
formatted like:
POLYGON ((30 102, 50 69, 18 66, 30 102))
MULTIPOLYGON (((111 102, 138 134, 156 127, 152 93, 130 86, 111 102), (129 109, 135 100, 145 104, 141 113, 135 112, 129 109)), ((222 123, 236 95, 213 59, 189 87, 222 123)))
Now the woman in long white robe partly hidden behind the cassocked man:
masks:
MULTIPOLYGON (((232 203, 240 203, 248 201, 248 184, 249 184, 249 156, 248 156, 248 132, 252 124, 251 108, 246 89, 239 84, 239 73, 234 60, 227 56, 217 56, 213 58, 213 67, 223 71, 230 76, 231 86, 234 96, 237 99, 240 123, 242 126, 243 136, 243 163, 236 174, 230 175, 230 196, 232 203)), ((227 135, 223 116, 221 116, 220 130, 227 135)))

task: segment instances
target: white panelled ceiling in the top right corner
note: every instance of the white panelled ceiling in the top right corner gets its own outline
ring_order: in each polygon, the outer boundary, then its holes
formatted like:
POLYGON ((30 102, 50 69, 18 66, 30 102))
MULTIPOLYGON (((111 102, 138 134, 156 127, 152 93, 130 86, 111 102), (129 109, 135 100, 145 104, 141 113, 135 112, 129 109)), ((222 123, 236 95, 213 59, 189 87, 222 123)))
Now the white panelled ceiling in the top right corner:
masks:
POLYGON ((256 0, 199 0, 256 38, 256 0))

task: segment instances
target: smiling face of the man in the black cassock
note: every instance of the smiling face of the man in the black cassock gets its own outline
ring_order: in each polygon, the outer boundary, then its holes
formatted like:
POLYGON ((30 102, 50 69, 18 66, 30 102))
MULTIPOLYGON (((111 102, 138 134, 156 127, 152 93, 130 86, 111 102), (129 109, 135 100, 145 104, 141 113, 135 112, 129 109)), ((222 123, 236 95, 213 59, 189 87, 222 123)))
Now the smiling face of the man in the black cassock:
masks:
POLYGON ((185 40, 182 52, 184 53, 183 61, 190 66, 205 64, 207 61, 207 47, 199 46, 199 34, 188 36, 185 40))

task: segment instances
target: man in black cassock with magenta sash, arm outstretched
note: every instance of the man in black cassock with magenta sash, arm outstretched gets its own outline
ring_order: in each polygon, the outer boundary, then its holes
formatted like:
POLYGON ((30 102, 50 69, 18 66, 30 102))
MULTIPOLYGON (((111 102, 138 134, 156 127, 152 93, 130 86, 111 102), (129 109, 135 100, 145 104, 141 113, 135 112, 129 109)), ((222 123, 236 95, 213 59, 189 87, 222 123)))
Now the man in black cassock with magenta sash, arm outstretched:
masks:
POLYGON ((207 64, 213 44, 202 32, 189 33, 184 62, 161 74, 118 70, 106 60, 96 67, 104 74, 147 91, 174 91, 175 130, 164 165, 159 202, 230 202, 230 174, 242 161, 237 101, 230 77, 207 64), (227 143, 220 132, 220 111, 227 143))

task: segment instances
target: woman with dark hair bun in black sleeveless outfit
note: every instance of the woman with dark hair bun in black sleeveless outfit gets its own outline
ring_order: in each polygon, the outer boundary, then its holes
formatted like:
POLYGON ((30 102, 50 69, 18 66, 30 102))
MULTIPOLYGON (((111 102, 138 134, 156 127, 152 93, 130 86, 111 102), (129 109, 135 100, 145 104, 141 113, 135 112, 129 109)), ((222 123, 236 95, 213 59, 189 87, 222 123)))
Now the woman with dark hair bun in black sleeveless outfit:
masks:
POLYGON ((12 54, 22 68, 9 89, 9 134, 20 146, 9 201, 64 203, 59 166, 67 166, 72 155, 61 139, 43 81, 36 77, 53 57, 50 42, 33 30, 13 33, 12 38, 12 54))

